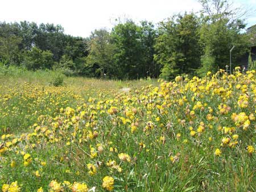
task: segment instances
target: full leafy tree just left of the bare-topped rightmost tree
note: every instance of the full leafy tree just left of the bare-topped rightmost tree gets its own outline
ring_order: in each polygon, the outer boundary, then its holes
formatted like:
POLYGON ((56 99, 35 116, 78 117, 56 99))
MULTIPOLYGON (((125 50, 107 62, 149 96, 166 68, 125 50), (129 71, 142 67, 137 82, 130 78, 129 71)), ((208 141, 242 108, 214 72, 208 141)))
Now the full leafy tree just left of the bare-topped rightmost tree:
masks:
POLYGON ((160 22, 155 62, 162 66, 160 77, 193 73, 200 66, 200 21, 195 14, 174 15, 160 22))

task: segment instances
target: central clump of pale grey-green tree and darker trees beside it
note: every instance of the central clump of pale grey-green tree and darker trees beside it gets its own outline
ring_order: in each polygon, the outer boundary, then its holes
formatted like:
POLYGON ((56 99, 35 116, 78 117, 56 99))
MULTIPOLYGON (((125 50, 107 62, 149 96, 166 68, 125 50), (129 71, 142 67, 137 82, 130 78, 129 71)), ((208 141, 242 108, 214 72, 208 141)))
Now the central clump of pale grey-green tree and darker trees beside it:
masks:
POLYGON ((110 33, 96 30, 90 36, 85 68, 94 77, 158 77, 159 66, 153 60, 155 37, 154 25, 146 21, 137 25, 127 20, 110 33))

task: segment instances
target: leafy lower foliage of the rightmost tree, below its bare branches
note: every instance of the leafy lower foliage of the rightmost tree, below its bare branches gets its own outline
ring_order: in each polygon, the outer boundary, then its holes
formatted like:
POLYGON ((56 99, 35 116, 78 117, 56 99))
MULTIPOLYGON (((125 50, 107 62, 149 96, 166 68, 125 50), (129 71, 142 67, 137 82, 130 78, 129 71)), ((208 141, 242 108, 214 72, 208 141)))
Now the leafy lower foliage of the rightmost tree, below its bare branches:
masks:
POLYGON ((232 60, 236 62, 247 50, 248 41, 246 36, 239 34, 234 27, 229 27, 228 19, 218 20, 214 23, 204 23, 201 28, 201 41, 204 44, 204 55, 201 65, 207 68, 208 60, 205 57, 213 57, 216 71, 217 68, 224 69, 229 64, 229 50, 236 46, 233 50, 232 60), (226 53, 226 54, 224 54, 226 53))

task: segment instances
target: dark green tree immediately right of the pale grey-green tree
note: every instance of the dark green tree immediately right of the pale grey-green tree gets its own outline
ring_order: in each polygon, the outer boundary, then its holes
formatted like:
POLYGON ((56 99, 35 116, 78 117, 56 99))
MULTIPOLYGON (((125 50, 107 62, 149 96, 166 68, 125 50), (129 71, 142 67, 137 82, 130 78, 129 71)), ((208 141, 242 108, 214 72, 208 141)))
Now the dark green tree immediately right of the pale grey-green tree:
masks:
POLYGON ((117 78, 145 77, 142 46, 142 28, 132 20, 119 23, 112 30, 111 36, 116 47, 113 56, 117 66, 117 78))

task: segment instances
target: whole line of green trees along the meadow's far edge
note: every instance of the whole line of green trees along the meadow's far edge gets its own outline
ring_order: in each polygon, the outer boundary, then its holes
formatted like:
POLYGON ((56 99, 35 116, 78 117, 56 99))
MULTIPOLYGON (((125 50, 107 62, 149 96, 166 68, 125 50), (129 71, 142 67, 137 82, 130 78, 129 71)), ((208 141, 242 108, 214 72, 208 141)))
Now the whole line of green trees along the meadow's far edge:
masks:
POLYGON ((0 61, 69 76, 171 80, 225 69, 235 45, 232 61, 239 65, 251 43, 243 32, 241 10, 232 9, 226 0, 200 3, 203 8, 197 14, 172 15, 157 26, 127 19, 87 38, 66 35, 60 25, 0 22, 0 61))

